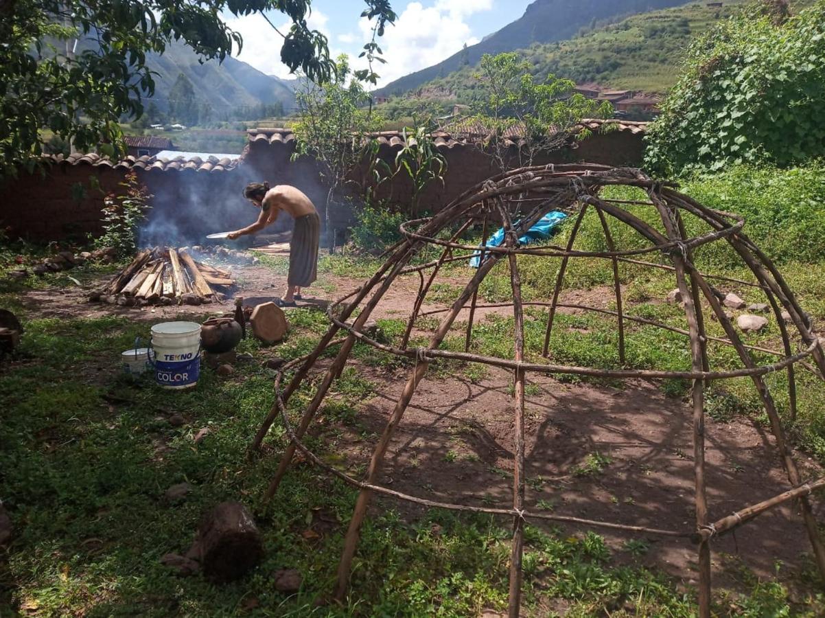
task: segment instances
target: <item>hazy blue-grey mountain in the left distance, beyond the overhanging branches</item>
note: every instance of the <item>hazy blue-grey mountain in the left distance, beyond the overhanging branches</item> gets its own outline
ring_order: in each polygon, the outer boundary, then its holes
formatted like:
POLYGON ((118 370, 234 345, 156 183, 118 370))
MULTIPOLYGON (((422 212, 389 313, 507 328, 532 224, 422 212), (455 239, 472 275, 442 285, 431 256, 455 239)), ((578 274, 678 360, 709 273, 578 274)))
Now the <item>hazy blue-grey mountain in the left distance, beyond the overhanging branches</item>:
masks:
POLYGON ((196 101, 208 104, 216 116, 233 116, 234 112, 257 106, 271 106, 280 102, 289 112, 295 106, 295 91, 272 75, 266 75, 238 59, 227 57, 223 63, 209 60, 198 62, 191 48, 174 41, 161 54, 147 56, 146 64, 158 73, 155 76, 154 101, 161 111, 167 111, 169 91, 180 73, 190 79, 196 101))

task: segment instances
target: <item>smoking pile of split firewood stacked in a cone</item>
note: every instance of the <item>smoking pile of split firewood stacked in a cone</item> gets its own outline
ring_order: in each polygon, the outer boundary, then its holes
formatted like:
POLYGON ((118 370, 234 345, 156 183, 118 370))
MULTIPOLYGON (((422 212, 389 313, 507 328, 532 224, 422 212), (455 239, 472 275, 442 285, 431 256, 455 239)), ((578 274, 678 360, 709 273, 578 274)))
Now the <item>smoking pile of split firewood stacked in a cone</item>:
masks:
POLYGON ((185 248, 144 249, 90 300, 135 304, 203 304, 223 297, 234 285, 229 271, 196 262, 185 248))

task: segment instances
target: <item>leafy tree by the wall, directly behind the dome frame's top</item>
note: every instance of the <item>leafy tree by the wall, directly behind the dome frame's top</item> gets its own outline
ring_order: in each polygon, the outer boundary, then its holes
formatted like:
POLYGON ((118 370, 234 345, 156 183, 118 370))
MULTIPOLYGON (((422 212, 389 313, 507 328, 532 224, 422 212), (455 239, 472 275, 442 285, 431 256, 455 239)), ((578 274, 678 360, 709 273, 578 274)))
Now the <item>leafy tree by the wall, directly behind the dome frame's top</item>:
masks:
POLYGON ((558 149, 582 118, 609 118, 613 107, 573 92, 576 84, 549 74, 536 83, 530 63, 516 52, 484 54, 474 74, 481 90, 470 122, 488 135, 484 144, 501 169, 530 165, 535 155, 558 149), (515 157, 508 136, 520 142, 515 157))

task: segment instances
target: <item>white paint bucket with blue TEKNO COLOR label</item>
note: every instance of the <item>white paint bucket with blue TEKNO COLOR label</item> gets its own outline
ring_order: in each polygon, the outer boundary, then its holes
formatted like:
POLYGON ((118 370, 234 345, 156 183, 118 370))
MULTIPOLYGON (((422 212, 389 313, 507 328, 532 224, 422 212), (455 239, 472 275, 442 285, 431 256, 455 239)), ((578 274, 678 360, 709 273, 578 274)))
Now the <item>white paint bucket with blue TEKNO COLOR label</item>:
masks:
POLYGON ((163 322, 152 327, 155 381, 164 389, 188 389, 200 375, 200 324, 163 322))

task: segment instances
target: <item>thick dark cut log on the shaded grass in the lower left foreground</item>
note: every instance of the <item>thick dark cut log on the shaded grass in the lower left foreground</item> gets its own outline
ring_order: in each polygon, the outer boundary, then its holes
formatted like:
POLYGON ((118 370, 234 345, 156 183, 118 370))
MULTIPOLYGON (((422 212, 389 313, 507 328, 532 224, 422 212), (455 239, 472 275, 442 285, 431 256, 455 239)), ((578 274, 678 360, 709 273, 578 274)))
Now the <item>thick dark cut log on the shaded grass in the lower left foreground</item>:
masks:
POLYGON ((263 556, 263 542, 252 515, 240 502, 221 502, 200 521, 188 557, 214 582, 242 578, 263 556))

